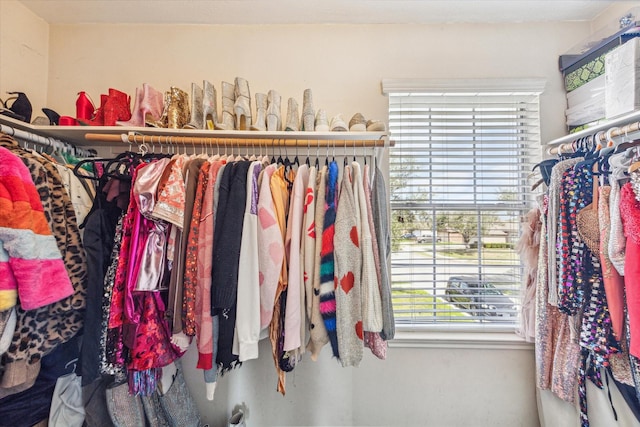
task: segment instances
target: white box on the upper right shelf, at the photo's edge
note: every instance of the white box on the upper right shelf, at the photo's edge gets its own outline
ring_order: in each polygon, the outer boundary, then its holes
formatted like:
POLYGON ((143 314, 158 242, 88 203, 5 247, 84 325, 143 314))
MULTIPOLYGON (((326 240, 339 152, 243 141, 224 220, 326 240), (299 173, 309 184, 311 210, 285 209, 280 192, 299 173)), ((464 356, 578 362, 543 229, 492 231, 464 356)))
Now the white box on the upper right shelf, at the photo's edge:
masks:
POLYGON ((640 108, 640 39, 635 38, 605 56, 607 119, 640 108))

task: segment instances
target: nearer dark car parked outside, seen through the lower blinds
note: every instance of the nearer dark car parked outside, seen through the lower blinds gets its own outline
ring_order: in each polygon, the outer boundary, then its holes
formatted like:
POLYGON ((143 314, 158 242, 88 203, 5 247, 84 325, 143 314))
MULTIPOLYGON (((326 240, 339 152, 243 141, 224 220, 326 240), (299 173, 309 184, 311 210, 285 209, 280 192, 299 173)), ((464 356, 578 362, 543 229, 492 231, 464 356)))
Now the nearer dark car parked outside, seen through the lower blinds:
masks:
MULTIPOLYGON (((508 276, 506 279, 510 281, 508 276)), ((469 310, 472 316, 515 317, 518 306, 500 289, 498 283, 505 283, 505 277, 451 276, 445 290, 446 299, 469 310)))

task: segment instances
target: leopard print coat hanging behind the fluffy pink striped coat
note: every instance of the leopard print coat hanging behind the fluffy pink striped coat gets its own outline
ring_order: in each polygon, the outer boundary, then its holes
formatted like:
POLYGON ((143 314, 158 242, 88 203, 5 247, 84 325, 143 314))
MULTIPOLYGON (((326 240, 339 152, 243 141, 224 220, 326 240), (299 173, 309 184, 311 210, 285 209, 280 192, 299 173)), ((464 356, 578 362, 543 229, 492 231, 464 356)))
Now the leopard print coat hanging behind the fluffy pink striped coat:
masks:
POLYGON ((0 381, 2 398, 31 387, 41 358, 82 329, 87 266, 73 205, 55 166, 21 149, 9 137, 0 137, 0 146, 20 156, 29 168, 74 288, 70 297, 36 310, 25 311, 18 305, 13 340, 0 364, 4 370, 0 381))

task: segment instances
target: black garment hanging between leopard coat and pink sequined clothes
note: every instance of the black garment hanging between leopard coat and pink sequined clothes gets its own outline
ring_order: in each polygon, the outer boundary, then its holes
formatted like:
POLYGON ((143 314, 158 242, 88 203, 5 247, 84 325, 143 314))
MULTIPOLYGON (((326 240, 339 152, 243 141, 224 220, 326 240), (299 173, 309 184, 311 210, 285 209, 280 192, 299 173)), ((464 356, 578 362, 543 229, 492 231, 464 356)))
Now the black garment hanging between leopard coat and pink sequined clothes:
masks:
POLYGON ((100 334, 102 330, 102 294, 104 276, 109 267, 116 224, 122 211, 108 202, 98 189, 93 208, 85 220, 84 249, 87 255, 87 310, 84 316, 84 338, 80 356, 82 385, 100 377, 100 334))

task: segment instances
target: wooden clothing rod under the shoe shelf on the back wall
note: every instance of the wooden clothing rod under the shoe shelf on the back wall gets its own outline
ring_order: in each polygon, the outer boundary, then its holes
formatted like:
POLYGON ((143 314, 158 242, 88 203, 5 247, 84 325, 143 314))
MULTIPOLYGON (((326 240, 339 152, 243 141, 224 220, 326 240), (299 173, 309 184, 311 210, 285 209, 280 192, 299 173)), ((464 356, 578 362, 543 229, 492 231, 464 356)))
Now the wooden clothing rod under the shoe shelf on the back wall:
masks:
POLYGON ((322 139, 309 138, 311 135, 302 135, 299 139, 289 136, 253 136, 242 135, 242 137, 197 137, 197 136, 167 136, 167 135, 144 135, 138 133, 126 134, 101 134, 87 133, 85 139, 87 141, 102 142, 122 142, 124 144, 163 144, 163 145, 228 145, 236 147, 247 146, 273 146, 273 147, 392 147, 393 141, 386 138, 380 139, 352 139, 349 133, 345 132, 344 138, 338 135, 332 135, 327 138, 326 134, 322 134, 322 139))

